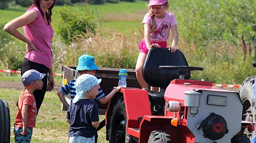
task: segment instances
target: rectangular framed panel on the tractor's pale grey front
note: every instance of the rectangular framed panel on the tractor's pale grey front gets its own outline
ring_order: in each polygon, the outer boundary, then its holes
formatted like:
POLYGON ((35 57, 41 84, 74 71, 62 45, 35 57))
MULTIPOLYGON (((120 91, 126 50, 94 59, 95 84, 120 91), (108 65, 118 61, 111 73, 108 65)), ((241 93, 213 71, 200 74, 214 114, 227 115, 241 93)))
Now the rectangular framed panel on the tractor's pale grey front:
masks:
POLYGON ((208 105, 216 105, 216 106, 227 106, 228 97, 217 96, 217 95, 208 95, 207 104, 208 105))

